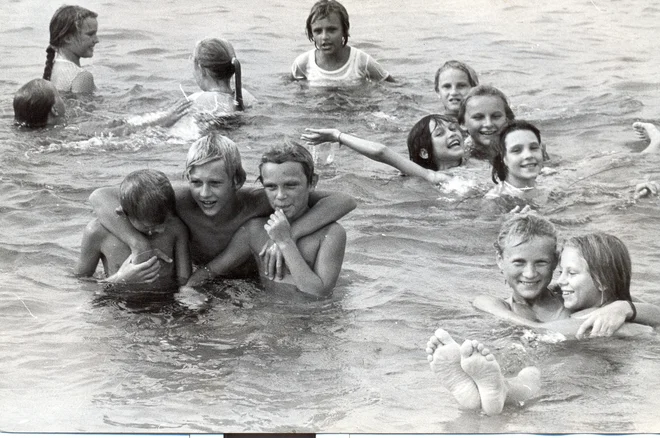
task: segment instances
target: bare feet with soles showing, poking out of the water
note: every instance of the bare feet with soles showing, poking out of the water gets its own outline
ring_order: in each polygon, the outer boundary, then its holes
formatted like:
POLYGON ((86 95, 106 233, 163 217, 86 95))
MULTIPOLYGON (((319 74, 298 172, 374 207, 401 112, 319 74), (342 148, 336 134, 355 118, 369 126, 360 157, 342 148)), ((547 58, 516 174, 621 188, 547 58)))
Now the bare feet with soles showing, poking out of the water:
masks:
POLYGON ((520 403, 534 397, 541 376, 535 367, 524 368, 516 377, 505 379, 500 365, 480 342, 465 340, 462 345, 443 329, 426 344, 431 370, 458 403, 468 409, 481 408, 487 415, 502 412, 505 403, 520 403))

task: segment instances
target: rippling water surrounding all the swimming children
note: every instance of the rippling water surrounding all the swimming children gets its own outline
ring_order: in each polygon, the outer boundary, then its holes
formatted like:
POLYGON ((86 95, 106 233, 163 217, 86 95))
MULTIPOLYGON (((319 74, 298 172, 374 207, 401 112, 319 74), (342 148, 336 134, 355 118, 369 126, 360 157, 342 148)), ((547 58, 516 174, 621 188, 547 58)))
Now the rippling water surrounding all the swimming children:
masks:
MULTIPOLYGON (((167 107, 196 89, 197 40, 230 40, 259 103, 229 134, 253 181, 269 145, 305 127, 339 127, 406 153, 408 129, 437 111, 433 74, 468 62, 542 129, 556 187, 542 212, 565 236, 614 233, 633 256, 633 293, 660 304, 657 199, 632 184, 659 177, 660 158, 630 125, 658 121, 660 8, 641 0, 346 1, 351 43, 394 85, 321 93, 287 79, 310 48, 312 2, 90 0, 99 38, 89 60, 99 92, 70 100, 72 126, 167 107), (309 4, 308 4, 309 3, 309 4)), ((529 341, 476 312, 508 294, 494 262, 500 218, 478 211, 489 186, 457 197, 335 151, 320 187, 353 194, 344 269, 332 299, 265 295, 235 282, 201 315, 169 302, 109 299, 72 276, 89 193, 153 167, 180 178, 189 142, 151 129, 94 137, 18 131, 13 93, 41 75, 59 1, 0 6, 0 429, 30 432, 658 432, 655 336, 559 344, 529 341), (45 3, 45 5, 44 5, 45 3), (495 418, 457 408, 428 369, 428 336, 493 345, 507 372, 543 374, 541 395, 495 418)))

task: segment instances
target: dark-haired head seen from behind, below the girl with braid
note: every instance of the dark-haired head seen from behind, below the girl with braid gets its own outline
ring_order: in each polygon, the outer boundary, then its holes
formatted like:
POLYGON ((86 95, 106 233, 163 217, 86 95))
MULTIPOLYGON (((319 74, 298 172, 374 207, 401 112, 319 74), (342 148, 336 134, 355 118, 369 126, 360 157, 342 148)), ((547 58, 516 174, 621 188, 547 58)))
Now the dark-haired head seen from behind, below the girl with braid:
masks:
POLYGON ((14 94, 14 121, 26 128, 41 128, 55 105, 57 90, 45 79, 33 79, 14 94))

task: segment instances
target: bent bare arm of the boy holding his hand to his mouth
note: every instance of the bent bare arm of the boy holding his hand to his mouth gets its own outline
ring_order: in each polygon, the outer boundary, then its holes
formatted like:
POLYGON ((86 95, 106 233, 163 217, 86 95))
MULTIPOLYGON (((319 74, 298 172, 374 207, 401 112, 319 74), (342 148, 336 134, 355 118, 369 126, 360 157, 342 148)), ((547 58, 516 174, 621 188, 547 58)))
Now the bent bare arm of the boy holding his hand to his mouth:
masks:
POLYGON ((320 297, 332 291, 344 260, 346 233, 343 228, 330 227, 320 243, 314 269, 307 264, 291 237, 289 222, 281 210, 271 215, 264 228, 282 251, 293 281, 301 292, 320 297))

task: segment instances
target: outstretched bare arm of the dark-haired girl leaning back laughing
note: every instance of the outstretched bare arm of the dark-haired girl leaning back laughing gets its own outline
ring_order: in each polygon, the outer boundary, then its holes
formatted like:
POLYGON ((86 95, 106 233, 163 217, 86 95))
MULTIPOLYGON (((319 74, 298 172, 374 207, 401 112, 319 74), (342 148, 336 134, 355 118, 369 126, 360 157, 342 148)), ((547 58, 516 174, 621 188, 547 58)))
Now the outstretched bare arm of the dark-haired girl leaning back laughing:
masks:
POLYGON ((409 176, 423 178, 433 184, 447 181, 448 176, 435 172, 431 169, 425 169, 417 163, 397 154, 384 144, 356 137, 354 135, 340 132, 338 129, 305 129, 307 132, 301 138, 308 144, 319 144, 325 142, 339 142, 346 145, 355 152, 371 158, 374 161, 385 163, 398 169, 401 173, 409 176))

